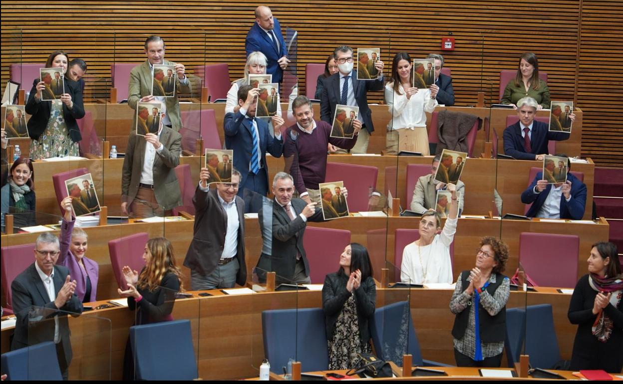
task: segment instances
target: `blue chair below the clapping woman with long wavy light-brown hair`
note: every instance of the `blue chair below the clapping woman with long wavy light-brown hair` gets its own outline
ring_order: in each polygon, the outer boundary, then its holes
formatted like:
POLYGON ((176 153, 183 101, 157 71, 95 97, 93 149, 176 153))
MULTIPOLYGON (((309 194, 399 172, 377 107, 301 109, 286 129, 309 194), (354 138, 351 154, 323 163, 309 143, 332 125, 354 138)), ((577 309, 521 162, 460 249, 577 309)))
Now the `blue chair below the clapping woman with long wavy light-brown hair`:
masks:
POLYGON ((136 380, 193 380, 197 358, 189 320, 130 327, 136 380))

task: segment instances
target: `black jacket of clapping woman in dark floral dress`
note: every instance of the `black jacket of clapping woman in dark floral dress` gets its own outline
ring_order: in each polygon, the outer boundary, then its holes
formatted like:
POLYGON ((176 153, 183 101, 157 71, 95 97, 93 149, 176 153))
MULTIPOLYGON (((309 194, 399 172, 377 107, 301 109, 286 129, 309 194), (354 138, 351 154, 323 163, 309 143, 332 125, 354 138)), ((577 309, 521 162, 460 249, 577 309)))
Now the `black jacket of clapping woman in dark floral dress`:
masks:
MULTIPOLYGON (((351 293, 346 290, 348 276, 346 274, 330 273, 326 275, 322 287, 322 310, 325 312, 326 338, 333 339, 335 323, 351 293)), ((361 282, 359 288, 354 289, 354 299, 357 305, 357 322, 359 335, 363 344, 370 340, 369 320, 376 310, 376 284, 372 276, 361 282)))

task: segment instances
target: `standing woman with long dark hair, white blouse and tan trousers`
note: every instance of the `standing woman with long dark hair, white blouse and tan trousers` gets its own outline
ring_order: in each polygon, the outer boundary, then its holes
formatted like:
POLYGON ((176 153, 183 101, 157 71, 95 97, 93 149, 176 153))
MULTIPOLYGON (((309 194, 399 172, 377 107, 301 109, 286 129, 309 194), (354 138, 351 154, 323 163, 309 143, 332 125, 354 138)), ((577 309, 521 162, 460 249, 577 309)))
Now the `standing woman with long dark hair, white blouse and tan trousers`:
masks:
POLYGON ((392 77, 385 85, 385 103, 392 115, 388 124, 387 151, 388 154, 397 154, 400 149, 405 148, 408 151, 421 152, 422 156, 429 156, 426 112, 434 111, 438 105, 435 98, 439 87, 435 84, 425 89, 413 87, 412 72, 413 65, 409 54, 398 52, 392 62, 392 77), (407 142, 399 143, 401 129, 411 130, 407 142))

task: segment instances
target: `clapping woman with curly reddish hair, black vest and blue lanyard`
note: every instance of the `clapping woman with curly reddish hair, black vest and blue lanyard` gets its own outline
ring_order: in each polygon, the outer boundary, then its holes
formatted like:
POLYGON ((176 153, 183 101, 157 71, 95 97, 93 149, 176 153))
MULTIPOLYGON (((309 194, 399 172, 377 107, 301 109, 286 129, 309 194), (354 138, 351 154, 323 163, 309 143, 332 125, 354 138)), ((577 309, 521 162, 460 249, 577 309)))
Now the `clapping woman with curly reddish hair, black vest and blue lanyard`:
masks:
POLYGON ((456 315, 452 337, 458 367, 500 367, 510 293, 510 280, 502 274, 507 260, 508 246, 484 237, 476 266, 457 279, 450 311, 456 315))

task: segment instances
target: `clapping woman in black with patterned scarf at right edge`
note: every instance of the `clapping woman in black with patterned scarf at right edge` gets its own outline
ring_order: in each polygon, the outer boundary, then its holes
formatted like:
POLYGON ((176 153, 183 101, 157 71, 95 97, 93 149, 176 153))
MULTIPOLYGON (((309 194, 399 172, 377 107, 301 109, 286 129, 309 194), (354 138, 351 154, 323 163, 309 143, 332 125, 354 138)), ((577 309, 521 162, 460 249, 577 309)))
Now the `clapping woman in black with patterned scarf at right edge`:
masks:
POLYGON ((592 245, 588 274, 582 276, 569 302, 569 321, 578 324, 571 369, 623 368, 623 274, 612 243, 592 245))

